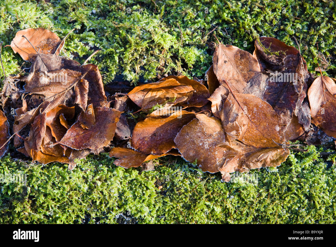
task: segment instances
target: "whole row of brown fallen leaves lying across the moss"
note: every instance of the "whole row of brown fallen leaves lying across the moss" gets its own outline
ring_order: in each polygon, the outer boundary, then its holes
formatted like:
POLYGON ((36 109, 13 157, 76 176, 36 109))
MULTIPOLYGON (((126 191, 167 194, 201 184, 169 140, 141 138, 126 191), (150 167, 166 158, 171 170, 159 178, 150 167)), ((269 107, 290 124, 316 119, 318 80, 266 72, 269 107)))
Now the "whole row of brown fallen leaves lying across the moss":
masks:
POLYGON ((279 166, 290 140, 318 144, 317 127, 336 138, 335 79, 314 80, 300 51, 275 38, 256 40, 253 55, 219 43, 208 87, 168 76, 109 98, 97 66, 58 56, 63 45, 42 28, 19 31, 11 42, 32 66, 5 76, 1 156, 10 126, 14 147, 43 164, 73 169, 76 158, 104 151, 129 168, 181 155, 228 181, 231 172, 279 166))

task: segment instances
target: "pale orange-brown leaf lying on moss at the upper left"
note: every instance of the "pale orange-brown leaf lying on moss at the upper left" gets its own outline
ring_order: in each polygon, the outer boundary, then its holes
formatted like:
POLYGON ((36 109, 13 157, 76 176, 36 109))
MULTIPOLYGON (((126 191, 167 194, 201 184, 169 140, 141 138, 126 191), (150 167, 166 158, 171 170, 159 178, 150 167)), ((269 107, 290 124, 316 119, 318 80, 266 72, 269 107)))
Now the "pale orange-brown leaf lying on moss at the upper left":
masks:
POLYGON ((10 43, 14 53, 18 52, 24 60, 34 60, 37 53, 27 39, 22 37, 23 35, 32 43, 38 53, 58 55, 59 51, 55 52, 61 40, 55 33, 44 28, 27 28, 18 31, 10 43))

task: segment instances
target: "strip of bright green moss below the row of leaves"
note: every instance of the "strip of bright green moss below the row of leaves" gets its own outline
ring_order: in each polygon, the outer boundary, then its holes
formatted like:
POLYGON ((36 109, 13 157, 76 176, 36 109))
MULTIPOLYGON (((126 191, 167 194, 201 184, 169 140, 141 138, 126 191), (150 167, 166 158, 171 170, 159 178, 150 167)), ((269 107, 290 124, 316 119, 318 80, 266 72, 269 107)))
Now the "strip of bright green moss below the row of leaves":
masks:
POLYGON ((278 168, 252 170, 257 184, 225 183, 181 158, 154 171, 125 170, 107 155, 73 170, 0 160, 0 173, 27 173, 27 185, 0 184, 0 223, 335 223, 336 168, 315 147, 278 168), (158 187, 162 186, 159 190, 158 187), (121 215, 122 214, 122 215, 121 215), (119 218, 117 218, 119 216, 119 218), (125 218, 124 218, 125 216, 125 218))

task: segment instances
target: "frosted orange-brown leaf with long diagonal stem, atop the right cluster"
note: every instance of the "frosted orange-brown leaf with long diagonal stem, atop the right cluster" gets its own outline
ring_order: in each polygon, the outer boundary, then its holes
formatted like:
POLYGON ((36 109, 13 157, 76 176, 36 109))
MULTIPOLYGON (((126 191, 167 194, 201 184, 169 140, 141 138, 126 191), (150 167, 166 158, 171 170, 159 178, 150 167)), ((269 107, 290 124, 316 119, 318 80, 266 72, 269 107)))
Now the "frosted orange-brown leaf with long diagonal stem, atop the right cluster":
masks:
POLYGON ((285 140, 280 118, 266 101, 252 94, 235 93, 235 97, 223 86, 210 97, 214 115, 229 136, 256 148, 277 147, 285 140))

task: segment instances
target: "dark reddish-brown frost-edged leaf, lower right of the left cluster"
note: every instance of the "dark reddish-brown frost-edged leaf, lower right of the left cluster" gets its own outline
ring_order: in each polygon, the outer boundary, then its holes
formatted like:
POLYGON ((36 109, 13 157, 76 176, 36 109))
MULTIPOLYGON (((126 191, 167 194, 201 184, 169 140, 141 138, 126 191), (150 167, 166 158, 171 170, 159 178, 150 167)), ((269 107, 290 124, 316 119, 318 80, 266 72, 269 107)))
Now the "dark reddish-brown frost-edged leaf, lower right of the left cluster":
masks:
MULTIPOLYGON (((85 114, 89 114, 88 111, 85 114)), ((108 107, 94 108, 95 119, 99 121, 87 129, 82 127, 84 123, 78 119, 59 141, 59 144, 76 150, 97 150, 107 146, 116 132, 120 114, 120 111, 108 107)))

